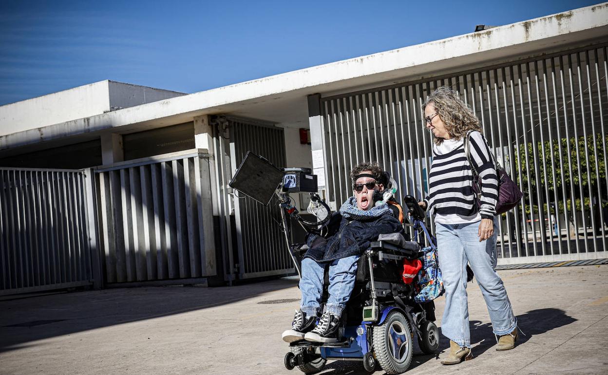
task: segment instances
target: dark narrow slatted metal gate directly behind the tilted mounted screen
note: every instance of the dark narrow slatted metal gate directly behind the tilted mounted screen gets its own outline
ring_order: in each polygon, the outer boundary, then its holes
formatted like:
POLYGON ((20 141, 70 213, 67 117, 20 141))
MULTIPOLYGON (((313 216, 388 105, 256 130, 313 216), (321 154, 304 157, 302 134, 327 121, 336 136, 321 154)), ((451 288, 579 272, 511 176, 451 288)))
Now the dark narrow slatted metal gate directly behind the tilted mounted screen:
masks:
POLYGON ((218 173, 218 195, 226 233, 233 233, 235 239, 235 243, 232 238, 226 243, 235 252, 233 258, 237 259, 230 259, 227 266, 234 264, 233 270, 241 279, 291 274, 295 269, 280 227, 277 200, 273 198, 264 206, 253 199, 238 197, 238 193, 227 185, 247 151, 268 159, 277 167, 285 167, 283 129, 230 117, 223 117, 220 123, 224 133, 215 136, 216 155, 223 156, 216 159, 223 163, 217 167, 223 171, 218 173))

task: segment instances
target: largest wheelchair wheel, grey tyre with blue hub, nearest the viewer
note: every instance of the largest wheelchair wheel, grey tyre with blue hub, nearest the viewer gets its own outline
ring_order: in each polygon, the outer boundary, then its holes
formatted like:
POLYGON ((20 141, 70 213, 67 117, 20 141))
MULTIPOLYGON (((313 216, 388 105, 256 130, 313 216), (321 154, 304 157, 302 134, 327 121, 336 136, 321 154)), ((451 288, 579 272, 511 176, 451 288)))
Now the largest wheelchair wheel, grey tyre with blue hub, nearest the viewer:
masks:
POLYGON ((412 362, 412 329, 401 311, 391 311, 381 325, 373 328, 371 348, 382 370, 401 374, 412 362))

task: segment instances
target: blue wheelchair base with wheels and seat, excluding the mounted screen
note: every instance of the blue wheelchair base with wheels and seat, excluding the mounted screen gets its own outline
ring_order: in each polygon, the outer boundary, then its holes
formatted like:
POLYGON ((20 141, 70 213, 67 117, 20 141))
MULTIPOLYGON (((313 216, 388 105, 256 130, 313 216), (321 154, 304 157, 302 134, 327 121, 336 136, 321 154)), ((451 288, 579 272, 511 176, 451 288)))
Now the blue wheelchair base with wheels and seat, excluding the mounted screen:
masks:
MULTIPOLYGON (((413 338, 418 338, 420 349, 435 353, 439 346, 439 332, 435 325, 434 303, 415 303, 415 281, 404 284, 401 278, 402 261, 421 257, 420 244, 391 239, 371 243, 359 258, 356 281, 345 312, 336 343, 300 340, 289 345, 285 367, 297 366, 306 374, 321 371, 327 360, 362 360, 367 371, 376 365, 389 374, 407 371, 413 354, 413 338)), ((301 260, 307 247, 294 251, 301 260)), ((326 301, 325 274, 322 301, 326 301)))

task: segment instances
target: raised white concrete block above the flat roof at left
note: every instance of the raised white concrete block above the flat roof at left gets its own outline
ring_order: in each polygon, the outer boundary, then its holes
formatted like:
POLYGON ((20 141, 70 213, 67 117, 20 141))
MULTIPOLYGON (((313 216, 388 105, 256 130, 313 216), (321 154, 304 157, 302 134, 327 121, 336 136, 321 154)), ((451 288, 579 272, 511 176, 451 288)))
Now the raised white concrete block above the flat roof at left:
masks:
MULTIPOLYGON (((178 97, 181 92, 99 81, 0 106, 0 136, 178 97)), ((41 135, 44 129, 40 129, 41 135)))

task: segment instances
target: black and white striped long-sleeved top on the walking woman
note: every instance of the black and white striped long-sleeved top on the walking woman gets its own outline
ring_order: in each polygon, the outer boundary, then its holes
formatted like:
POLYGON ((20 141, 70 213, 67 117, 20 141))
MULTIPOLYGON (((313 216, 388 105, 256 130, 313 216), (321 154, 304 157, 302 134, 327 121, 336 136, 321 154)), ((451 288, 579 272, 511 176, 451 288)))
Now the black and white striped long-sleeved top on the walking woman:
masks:
POLYGON ((475 206, 472 190, 473 174, 466 159, 463 140, 446 140, 433 146, 429 174, 429 195, 424 199, 430 215, 440 224, 492 219, 496 213, 498 180, 488 142, 478 131, 470 136, 471 162, 482 181, 482 205, 475 206))

